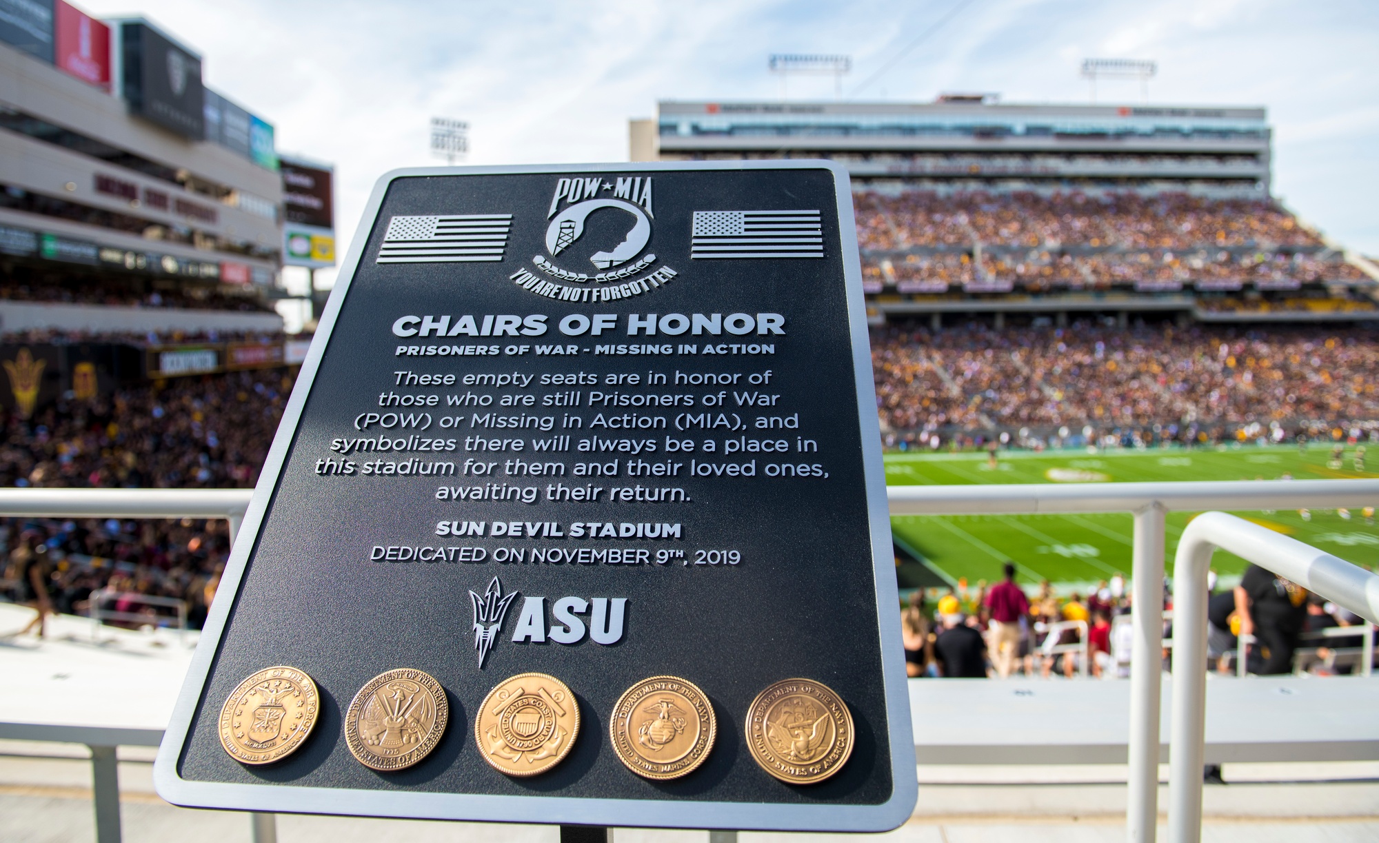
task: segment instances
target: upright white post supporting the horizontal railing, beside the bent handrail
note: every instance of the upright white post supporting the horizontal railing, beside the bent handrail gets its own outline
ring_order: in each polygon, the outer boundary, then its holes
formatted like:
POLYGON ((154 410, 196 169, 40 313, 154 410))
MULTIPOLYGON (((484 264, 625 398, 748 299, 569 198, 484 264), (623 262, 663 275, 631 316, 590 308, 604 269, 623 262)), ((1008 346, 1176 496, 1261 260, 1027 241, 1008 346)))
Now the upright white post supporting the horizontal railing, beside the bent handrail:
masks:
POLYGON ((1164 507, 1135 512, 1131 568, 1128 843, 1154 843, 1158 826, 1158 694, 1164 652, 1164 507))

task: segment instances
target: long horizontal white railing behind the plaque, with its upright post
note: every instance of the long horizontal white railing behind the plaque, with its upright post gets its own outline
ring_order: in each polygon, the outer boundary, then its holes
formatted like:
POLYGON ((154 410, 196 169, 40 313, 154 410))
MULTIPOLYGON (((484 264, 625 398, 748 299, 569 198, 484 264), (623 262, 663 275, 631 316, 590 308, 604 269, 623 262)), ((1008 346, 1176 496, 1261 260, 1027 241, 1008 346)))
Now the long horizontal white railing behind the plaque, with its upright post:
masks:
MULTIPOLYGON (((0 517, 226 518, 233 539, 251 495, 250 489, 0 489, 0 517)), ((1375 506, 1379 501, 1379 479, 888 486, 887 497, 891 515, 1134 515, 1131 585, 1136 612, 1129 621, 1135 635, 1131 654, 1127 839, 1129 843, 1153 843, 1158 821, 1165 512, 1220 507, 1274 510, 1375 506)), ((1269 536, 1281 539, 1271 532, 1269 536)), ((1200 784, 1200 767, 1190 780, 1200 784)), ((112 839, 117 840, 117 835, 119 831, 112 839)))

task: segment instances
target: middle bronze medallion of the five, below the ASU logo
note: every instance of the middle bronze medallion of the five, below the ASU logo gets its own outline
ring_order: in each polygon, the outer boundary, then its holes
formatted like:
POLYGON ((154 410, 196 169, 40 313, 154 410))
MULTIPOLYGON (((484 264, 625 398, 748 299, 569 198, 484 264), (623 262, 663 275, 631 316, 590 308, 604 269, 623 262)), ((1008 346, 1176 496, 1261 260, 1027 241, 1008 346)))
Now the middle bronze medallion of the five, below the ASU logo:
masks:
POLYGON ((484 760, 507 776, 538 776, 570 755, 579 736, 579 704, 564 682, 519 674, 484 697, 474 742, 484 760))

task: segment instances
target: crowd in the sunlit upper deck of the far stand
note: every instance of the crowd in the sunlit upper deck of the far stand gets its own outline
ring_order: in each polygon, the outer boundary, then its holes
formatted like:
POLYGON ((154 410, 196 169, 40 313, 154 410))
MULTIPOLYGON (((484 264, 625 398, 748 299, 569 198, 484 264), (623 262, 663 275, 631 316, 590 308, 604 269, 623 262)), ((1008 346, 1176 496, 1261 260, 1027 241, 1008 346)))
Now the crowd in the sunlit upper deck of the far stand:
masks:
POLYGON ((935 293, 974 282, 1018 284, 1030 292, 1296 289, 1365 280, 1291 214, 1263 200, 907 191, 860 193, 856 209, 874 292, 894 285, 900 293, 935 293))

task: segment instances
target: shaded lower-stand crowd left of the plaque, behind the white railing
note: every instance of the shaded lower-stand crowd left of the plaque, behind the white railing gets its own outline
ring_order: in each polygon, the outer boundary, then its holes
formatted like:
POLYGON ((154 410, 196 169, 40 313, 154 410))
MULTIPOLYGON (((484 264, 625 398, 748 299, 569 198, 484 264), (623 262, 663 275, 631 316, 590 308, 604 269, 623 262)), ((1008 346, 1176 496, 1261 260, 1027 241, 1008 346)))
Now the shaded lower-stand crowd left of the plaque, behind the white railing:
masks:
MULTIPOLYGON (((32 419, 0 410, 0 486, 251 488, 292 387, 288 372, 154 382, 62 399, 32 419)), ((37 576, 59 612, 84 610, 94 590, 108 588, 182 599, 200 627, 229 534, 223 521, 7 518, 0 551, 10 599, 39 599, 37 576)), ((130 596, 106 609, 172 620, 130 596)))

